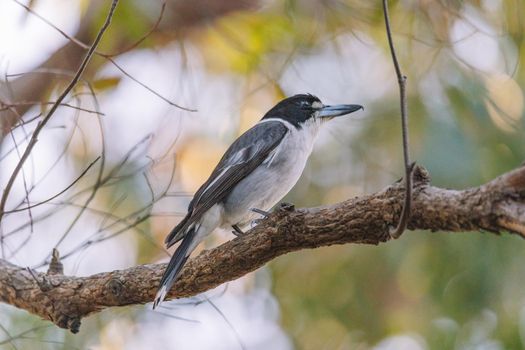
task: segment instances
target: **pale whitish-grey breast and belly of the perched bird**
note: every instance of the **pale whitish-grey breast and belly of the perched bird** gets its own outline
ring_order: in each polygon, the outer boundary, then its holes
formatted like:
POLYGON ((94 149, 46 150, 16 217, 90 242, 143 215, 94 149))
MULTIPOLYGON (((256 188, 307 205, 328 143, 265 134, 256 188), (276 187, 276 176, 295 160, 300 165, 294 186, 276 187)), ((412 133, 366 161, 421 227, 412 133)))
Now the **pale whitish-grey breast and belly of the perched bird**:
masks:
POLYGON ((260 214, 250 211, 251 208, 268 211, 277 204, 301 177, 315 134, 293 130, 285 136, 275 153, 241 180, 226 197, 221 226, 245 226, 260 217, 260 214))

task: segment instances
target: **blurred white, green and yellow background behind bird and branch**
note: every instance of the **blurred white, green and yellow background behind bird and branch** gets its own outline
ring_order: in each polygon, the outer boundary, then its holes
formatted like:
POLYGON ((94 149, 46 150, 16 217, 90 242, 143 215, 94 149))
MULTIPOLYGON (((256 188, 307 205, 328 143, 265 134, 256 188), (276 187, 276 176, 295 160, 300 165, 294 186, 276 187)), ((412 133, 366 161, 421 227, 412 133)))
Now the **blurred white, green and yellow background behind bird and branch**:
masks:
MULTIPOLYGON (((67 37, 90 44, 109 4, 0 3, 2 189, 85 54, 67 37)), ((477 186, 519 166, 525 3, 391 1, 391 17, 412 158, 433 184, 477 186)), ((53 247, 79 276, 167 261, 165 235, 224 150, 296 93, 365 111, 326 125, 286 201, 335 203, 402 177, 379 1, 122 0, 98 51, 9 196, 1 250, 15 264, 45 271, 53 247)), ((525 348, 524 248, 510 235, 407 232, 305 250, 159 312, 105 310, 77 335, 0 305, 0 348, 525 348)))

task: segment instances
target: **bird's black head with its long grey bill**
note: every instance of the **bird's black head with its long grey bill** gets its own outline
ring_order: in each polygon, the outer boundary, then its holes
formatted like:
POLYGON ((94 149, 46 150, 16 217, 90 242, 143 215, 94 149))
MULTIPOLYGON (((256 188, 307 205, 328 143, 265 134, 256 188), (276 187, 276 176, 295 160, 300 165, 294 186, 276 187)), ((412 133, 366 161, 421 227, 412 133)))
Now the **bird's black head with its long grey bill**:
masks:
POLYGON ((300 94, 285 98, 270 109, 263 119, 283 119, 296 128, 315 120, 330 120, 334 117, 349 114, 359 109, 360 105, 325 106, 319 98, 310 94, 300 94))

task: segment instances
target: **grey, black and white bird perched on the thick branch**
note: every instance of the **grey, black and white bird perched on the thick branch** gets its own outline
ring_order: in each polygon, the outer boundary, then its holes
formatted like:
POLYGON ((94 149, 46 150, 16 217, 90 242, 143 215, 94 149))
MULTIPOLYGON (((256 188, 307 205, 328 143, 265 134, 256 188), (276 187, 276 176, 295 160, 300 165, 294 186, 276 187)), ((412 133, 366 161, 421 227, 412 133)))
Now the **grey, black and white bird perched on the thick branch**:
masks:
POLYGON ((357 104, 324 105, 311 94, 283 99, 226 150, 197 190, 184 219, 167 235, 180 245, 160 281, 155 309, 175 283, 197 245, 217 227, 242 228, 270 210, 299 180, 322 124, 363 109, 357 104))

